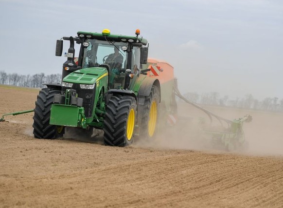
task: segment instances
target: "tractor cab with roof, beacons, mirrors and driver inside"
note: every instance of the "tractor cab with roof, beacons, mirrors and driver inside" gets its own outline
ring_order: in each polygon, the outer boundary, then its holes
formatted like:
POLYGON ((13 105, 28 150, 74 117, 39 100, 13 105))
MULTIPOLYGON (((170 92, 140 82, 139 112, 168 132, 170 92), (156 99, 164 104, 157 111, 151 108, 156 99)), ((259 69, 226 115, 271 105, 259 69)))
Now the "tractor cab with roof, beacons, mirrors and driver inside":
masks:
MULTIPOLYGON (((65 53, 68 60, 63 64, 62 80, 79 69, 104 67, 108 71, 108 89, 130 89, 131 83, 147 63, 147 40, 135 36, 112 35, 108 29, 102 33, 78 32, 78 37, 63 37, 70 40, 70 49, 65 53), (74 62, 73 43, 81 44, 78 61, 74 62), (67 55, 66 55, 67 54, 67 55)), ((63 40, 57 40, 56 56, 61 56, 63 40), (59 44, 58 44, 59 43, 59 44)))

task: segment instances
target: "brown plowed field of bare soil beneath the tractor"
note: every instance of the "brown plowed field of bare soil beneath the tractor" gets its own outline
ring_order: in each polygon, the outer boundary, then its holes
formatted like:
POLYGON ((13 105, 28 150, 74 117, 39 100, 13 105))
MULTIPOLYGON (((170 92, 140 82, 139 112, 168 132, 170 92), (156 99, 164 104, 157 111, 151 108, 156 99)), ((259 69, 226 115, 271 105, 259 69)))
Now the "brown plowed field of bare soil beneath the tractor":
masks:
MULTIPOLYGON (((0 115, 33 109, 38 90, 0 86, 0 115)), ((0 122, 0 208, 283 207, 283 114, 210 108, 228 119, 251 114, 249 150, 225 152, 171 133, 152 144, 107 147, 33 137, 33 113, 0 122)), ((198 113, 185 103, 179 113, 198 113)), ((174 132, 174 131, 173 131, 174 132)))

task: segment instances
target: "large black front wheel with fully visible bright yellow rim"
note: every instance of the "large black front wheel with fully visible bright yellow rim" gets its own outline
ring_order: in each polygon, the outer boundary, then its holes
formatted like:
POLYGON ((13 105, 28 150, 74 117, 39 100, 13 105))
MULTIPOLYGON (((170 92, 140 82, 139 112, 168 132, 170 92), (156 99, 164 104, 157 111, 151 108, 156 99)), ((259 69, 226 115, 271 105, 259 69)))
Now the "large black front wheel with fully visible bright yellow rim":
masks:
POLYGON ((128 95, 113 95, 106 107, 104 144, 124 147, 132 144, 136 125, 137 101, 128 95))

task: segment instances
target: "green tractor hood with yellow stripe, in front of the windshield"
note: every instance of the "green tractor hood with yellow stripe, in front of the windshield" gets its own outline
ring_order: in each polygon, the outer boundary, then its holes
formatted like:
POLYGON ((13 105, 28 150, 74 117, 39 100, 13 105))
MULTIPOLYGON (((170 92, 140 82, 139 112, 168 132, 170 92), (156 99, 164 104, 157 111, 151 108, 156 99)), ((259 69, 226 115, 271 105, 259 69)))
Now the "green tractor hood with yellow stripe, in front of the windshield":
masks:
POLYGON ((108 71, 103 67, 80 69, 64 77, 63 82, 77 84, 94 84, 98 79, 107 76, 108 71))

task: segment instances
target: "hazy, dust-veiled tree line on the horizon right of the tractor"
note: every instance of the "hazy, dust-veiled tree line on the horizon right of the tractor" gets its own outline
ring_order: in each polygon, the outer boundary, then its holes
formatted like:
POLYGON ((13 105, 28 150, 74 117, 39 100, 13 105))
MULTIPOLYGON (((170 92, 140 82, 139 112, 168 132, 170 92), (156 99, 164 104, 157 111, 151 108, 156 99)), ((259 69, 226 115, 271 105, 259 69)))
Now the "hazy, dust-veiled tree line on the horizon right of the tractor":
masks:
POLYGON ((229 99, 228 95, 220 96, 217 92, 203 93, 186 93, 184 95, 190 101, 202 105, 217 105, 234 108, 244 108, 252 110, 283 112, 283 99, 278 97, 265 97, 259 100, 251 94, 247 94, 242 98, 229 99))

